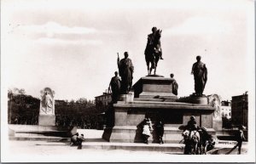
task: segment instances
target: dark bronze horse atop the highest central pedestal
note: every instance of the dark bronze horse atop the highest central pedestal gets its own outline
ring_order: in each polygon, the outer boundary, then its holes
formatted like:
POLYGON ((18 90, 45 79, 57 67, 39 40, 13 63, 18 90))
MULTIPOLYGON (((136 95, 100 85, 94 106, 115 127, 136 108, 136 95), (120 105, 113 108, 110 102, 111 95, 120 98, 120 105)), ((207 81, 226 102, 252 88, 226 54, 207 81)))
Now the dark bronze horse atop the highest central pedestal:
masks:
POLYGON ((156 71, 156 67, 158 61, 160 59, 162 49, 160 44, 160 37, 161 37, 160 30, 157 30, 151 42, 147 43, 147 47, 145 49, 145 59, 148 66, 148 75, 151 75, 151 71, 154 69, 154 75, 156 71), (149 63, 151 63, 151 67, 149 68, 149 63))

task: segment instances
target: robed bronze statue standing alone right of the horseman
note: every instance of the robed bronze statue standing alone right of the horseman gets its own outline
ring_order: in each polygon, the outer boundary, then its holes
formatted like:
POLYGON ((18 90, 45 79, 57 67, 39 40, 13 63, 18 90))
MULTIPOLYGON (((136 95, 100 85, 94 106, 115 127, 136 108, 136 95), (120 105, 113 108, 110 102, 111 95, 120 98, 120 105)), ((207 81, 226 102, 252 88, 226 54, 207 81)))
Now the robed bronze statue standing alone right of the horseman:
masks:
POLYGON ((201 56, 196 56, 197 62, 192 66, 191 74, 195 79, 195 95, 202 96, 207 84, 207 66, 201 62, 201 56))

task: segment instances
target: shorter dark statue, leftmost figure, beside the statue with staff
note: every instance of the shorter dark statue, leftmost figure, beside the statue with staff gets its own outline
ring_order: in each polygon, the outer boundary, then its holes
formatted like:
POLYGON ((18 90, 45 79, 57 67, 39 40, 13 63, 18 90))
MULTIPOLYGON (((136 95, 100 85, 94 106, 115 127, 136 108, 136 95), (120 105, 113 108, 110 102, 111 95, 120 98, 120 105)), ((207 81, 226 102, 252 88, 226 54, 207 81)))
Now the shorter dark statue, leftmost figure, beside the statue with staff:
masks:
POLYGON ((119 92, 121 87, 121 80, 119 79, 119 73, 117 71, 114 72, 114 76, 111 78, 109 83, 108 90, 112 91, 112 102, 116 103, 118 101, 119 92))

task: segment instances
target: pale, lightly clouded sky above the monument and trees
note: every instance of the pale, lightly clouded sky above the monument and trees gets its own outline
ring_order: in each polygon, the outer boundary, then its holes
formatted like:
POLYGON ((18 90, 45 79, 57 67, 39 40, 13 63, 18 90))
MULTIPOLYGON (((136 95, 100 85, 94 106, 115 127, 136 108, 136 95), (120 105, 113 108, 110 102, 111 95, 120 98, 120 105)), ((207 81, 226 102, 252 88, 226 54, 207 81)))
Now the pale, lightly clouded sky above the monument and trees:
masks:
POLYGON ((208 68, 205 94, 223 99, 254 92, 253 1, 3 0, 3 90, 39 97, 94 99, 129 52, 134 80, 147 75, 144 49, 153 26, 162 30, 157 74, 174 77, 178 96, 194 92, 195 57, 208 68))

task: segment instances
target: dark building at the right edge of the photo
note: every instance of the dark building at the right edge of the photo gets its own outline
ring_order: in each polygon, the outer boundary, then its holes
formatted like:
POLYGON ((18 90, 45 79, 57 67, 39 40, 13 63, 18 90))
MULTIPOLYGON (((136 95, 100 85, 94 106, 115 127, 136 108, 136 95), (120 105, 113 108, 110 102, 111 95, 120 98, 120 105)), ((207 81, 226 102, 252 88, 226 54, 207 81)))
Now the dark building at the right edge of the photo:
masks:
POLYGON ((248 94, 247 92, 233 96, 231 101, 231 119, 235 125, 248 125, 248 94))

